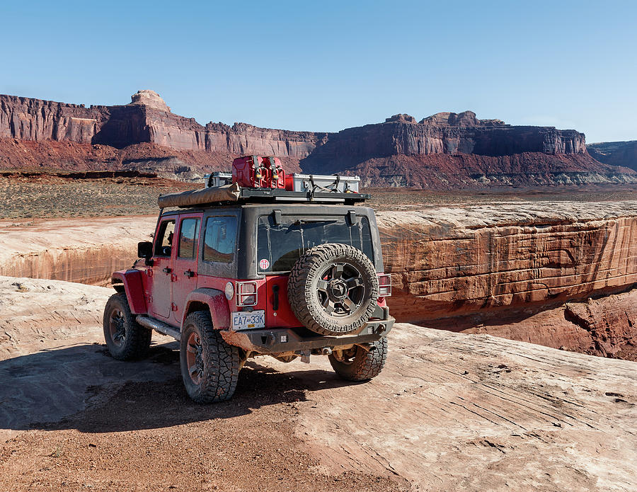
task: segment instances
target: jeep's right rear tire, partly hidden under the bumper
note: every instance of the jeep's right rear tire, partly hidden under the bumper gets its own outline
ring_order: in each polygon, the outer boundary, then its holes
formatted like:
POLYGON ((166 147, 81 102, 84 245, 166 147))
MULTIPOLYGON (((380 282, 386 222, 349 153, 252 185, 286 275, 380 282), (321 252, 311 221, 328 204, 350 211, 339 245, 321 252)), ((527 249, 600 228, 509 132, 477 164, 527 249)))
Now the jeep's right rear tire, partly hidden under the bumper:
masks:
POLYGON ((328 355, 333 370, 341 378, 348 381, 367 381, 377 377, 385 365, 387 359, 387 338, 370 343, 376 350, 365 350, 358 345, 350 350, 343 351, 341 360, 332 353, 328 355))

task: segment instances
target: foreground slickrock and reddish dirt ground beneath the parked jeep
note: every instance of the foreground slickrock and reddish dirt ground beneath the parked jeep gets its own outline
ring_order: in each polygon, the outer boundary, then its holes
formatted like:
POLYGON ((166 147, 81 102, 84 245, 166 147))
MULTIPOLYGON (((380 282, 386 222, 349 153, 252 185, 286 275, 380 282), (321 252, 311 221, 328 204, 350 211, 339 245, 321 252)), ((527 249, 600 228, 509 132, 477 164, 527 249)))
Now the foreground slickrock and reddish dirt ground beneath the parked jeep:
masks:
POLYGON ((111 292, 0 278, 0 491, 635 490, 635 362, 398 324, 372 382, 259 357, 200 406, 171 339, 109 357, 111 292))

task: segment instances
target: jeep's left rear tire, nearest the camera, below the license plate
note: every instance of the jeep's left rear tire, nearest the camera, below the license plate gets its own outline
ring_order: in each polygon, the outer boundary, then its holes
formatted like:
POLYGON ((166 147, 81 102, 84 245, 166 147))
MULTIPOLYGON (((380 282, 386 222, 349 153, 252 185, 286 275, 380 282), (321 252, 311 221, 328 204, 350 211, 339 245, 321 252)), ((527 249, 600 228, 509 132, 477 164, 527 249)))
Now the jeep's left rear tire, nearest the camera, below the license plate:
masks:
POLYGON ((229 345, 212 326, 210 313, 188 314, 181 333, 181 377, 188 396, 200 404, 232 398, 239 379, 239 348, 229 345))

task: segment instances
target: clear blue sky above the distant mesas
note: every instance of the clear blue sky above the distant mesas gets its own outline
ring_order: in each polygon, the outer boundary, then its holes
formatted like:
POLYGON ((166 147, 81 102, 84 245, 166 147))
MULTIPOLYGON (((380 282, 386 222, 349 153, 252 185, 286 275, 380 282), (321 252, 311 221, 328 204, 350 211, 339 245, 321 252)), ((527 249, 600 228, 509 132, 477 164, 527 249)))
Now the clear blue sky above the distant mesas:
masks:
POLYGON ((0 93, 338 131, 474 110, 637 139, 633 1, 8 1, 0 93))

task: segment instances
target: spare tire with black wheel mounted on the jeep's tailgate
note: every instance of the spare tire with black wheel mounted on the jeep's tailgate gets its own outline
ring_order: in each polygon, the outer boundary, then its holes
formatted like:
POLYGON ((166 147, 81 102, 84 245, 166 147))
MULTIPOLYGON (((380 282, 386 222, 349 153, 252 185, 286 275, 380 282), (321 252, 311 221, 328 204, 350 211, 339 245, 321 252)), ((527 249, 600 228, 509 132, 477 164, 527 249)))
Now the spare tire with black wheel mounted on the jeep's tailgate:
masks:
POLYGON ((376 269, 354 246, 314 246, 294 263, 287 299, 297 319, 314 333, 353 333, 367 323, 376 308, 376 269))

